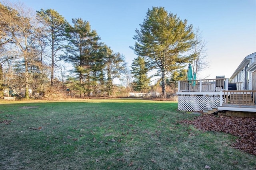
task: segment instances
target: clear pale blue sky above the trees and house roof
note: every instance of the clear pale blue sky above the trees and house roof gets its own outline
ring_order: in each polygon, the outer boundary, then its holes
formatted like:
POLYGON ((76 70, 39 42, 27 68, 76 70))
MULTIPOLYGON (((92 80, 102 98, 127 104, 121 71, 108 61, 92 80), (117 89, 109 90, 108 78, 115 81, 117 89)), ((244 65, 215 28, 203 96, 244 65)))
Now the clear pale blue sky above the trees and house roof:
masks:
MULTIPOLYGON (((12 0, 12 2, 15 2, 12 0)), ((199 73, 200 78, 224 75, 229 78, 244 57, 256 52, 256 0, 20 0, 28 8, 54 9, 71 23, 72 18, 89 21, 114 52, 120 52, 126 62, 136 58, 129 46, 134 46, 135 29, 153 6, 164 7, 188 20, 202 31, 207 42, 210 68, 199 73)))

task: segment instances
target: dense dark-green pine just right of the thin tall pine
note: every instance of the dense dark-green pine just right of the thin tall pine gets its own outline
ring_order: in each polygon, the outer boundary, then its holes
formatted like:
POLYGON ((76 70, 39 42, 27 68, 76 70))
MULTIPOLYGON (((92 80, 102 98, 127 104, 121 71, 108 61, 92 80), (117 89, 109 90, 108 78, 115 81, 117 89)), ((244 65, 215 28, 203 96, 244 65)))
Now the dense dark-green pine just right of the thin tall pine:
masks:
MULTIPOLYGON (((66 28, 68 46, 64 59, 74 66, 74 72, 80 82, 80 97, 85 92, 85 85, 90 86, 90 72, 98 55, 100 37, 91 29, 88 21, 81 18, 72 19, 73 26, 68 24, 66 28), (86 82, 86 84, 84 84, 86 82)), ((90 93, 87 91, 87 93, 90 93)))

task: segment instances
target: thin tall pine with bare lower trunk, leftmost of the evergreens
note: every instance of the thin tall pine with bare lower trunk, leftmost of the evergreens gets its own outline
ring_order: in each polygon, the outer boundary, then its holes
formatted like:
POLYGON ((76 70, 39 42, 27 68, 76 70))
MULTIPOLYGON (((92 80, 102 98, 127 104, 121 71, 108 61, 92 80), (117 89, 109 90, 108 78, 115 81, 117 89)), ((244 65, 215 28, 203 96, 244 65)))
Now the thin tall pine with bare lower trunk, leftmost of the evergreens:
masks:
POLYGON ((44 38, 51 49, 51 86, 54 80, 54 65, 64 49, 64 31, 66 20, 52 9, 37 11, 38 20, 44 25, 44 38))

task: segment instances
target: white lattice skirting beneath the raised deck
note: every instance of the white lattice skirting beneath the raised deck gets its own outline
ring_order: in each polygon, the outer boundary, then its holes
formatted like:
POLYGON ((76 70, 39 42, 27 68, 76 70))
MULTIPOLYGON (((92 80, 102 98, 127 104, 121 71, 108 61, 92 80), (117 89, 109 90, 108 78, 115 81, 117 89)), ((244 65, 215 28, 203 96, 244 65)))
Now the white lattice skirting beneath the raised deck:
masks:
POLYGON ((204 108, 217 107, 218 104, 220 104, 219 96, 178 96, 180 111, 203 111, 204 108))

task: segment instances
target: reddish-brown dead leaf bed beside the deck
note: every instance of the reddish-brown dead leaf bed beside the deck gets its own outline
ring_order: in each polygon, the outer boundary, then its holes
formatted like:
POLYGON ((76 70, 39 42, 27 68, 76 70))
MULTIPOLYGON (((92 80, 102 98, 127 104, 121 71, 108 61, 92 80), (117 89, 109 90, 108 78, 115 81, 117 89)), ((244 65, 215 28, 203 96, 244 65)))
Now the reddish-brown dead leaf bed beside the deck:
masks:
POLYGON ((178 123, 192 124, 204 131, 230 133, 239 137, 233 146, 256 155, 256 119, 253 117, 231 117, 217 115, 202 115, 194 120, 183 120, 178 123))

